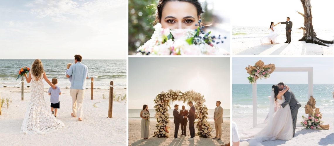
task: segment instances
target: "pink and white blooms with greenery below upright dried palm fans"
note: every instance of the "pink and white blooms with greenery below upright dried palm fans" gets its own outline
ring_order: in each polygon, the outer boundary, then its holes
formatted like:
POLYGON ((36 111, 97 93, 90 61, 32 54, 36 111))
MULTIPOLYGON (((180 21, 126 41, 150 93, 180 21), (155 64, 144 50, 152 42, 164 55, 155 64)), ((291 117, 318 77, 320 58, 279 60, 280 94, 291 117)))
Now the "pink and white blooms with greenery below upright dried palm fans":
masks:
POLYGON ((320 125, 322 125, 323 121, 321 120, 321 114, 310 115, 308 117, 302 116, 303 120, 300 122, 306 129, 322 129, 320 125))

